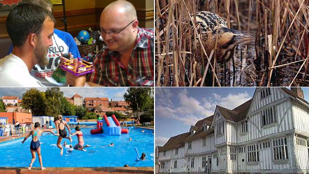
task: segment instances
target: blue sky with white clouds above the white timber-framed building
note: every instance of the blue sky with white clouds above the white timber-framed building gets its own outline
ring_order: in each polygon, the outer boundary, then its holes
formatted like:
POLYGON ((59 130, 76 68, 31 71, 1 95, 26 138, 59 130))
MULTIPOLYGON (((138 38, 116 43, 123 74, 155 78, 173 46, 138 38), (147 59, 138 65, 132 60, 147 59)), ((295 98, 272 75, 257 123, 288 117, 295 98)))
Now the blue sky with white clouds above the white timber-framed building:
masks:
MULTIPOLYGON (((198 120, 213 115, 216 105, 227 109, 250 100, 254 87, 155 88, 155 145, 188 132, 198 120)), ((304 90, 309 100, 309 88, 304 90)))

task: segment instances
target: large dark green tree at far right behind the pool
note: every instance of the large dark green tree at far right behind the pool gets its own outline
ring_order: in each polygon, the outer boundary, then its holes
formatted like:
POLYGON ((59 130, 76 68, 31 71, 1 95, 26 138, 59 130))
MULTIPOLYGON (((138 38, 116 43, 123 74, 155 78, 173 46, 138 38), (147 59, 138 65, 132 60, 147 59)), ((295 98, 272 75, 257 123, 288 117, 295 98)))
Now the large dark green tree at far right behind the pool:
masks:
POLYGON ((130 103, 133 112, 136 112, 140 119, 140 112, 149 109, 154 103, 154 89, 128 88, 123 97, 126 102, 130 103))

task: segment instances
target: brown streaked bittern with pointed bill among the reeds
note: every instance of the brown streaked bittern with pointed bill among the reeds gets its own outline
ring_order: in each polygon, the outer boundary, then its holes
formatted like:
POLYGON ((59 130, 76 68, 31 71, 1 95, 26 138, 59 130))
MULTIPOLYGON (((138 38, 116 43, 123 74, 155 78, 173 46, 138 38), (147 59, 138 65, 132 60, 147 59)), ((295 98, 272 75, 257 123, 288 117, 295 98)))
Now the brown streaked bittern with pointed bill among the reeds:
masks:
MULTIPOLYGON (((191 14, 191 17, 193 18, 194 15, 191 14)), ((209 56, 210 52, 215 49, 215 43, 217 39, 215 58, 218 63, 224 63, 224 76, 226 74, 225 63, 231 58, 233 59, 234 83, 235 63, 233 56, 235 52, 235 47, 240 43, 255 40, 255 38, 250 35, 243 34, 240 31, 228 28, 226 22, 220 16, 209 11, 196 12, 196 24, 198 30, 197 37, 201 37, 201 41, 203 43, 207 56, 209 56)), ((192 36, 194 36, 194 34, 192 34, 192 36)), ((192 49, 196 48, 196 51, 199 55, 202 55, 202 53, 204 55, 204 52, 199 42, 197 43, 198 45, 196 47, 192 45, 192 49)), ((192 44, 194 44, 193 41, 192 44)))

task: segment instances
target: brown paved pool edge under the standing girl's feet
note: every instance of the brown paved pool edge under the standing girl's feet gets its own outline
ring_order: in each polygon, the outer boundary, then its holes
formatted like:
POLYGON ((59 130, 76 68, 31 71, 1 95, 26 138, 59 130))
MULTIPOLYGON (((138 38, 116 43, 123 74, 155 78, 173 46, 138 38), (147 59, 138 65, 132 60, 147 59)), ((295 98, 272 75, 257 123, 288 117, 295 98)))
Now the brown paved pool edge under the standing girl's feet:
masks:
POLYGON ((100 167, 100 168, 8 168, 0 167, 0 174, 154 174, 153 167, 100 167))

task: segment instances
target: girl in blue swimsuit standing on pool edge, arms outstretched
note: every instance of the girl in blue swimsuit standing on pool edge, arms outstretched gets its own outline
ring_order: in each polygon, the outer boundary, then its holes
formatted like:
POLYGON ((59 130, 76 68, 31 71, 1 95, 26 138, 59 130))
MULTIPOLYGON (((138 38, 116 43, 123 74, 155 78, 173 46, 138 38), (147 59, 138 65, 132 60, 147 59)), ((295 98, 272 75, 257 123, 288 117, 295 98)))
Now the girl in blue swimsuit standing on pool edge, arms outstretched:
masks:
POLYGON ((42 134, 42 132, 51 132, 52 134, 56 135, 53 131, 47 130, 47 129, 41 130, 40 127, 41 127, 40 123, 36 122, 34 124, 34 129, 31 130, 28 133, 28 135, 24 138, 24 140, 21 142, 21 143, 24 143, 26 141, 26 139, 30 135, 32 135, 32 141, 30 143, 30 152, 31 152, 31 155, 32 155, 32 159, 31 159, 31 163, 30 163, 30 165, 28 167, 29 171, 31 171, 32 164, 34 163, 34 161, 36 159, 36 155, 35 155, 36 152, 37 152, 38 157, 39 157, 39 161, 40 161, 40 165, 41 165, 41 170, 43 171, 45 169, 43 167, 43 163, 42 163, 41 147, 40 147, 40 140, 39 140, 39 137, 42 134))

